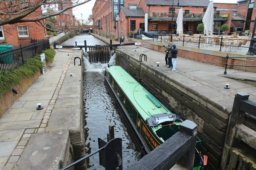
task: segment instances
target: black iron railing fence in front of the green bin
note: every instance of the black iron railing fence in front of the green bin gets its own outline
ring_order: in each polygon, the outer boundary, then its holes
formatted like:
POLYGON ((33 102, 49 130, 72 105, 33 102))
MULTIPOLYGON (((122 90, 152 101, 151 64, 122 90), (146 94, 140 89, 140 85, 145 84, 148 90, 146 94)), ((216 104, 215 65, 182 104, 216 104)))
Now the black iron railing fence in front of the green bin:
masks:
POLYGON ((1 71, 13 71, 22 66, 26 59, 41 54, 50 48, 49 40, 38 40, 26 45, 4 45, 0 48, 0 73, 1 71))

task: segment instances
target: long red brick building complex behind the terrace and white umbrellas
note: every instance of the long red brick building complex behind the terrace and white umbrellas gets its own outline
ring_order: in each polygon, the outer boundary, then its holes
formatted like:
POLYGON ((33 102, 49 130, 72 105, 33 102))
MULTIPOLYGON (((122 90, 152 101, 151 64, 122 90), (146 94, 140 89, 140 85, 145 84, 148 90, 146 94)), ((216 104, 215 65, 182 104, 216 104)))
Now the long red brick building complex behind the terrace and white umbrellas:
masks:
MULTIPOLYGON (((202 23, 209 0, 131 0, 128 3, 123 0, 96 1, 93 6, 93 30, 103 36, 108 35, 116 39, 124 36, 126 39, 130 32, 145 28, 145 14, 148 14, 146 31, 166 34, 173 31, 173 34, 176 34, 178 3, 183 8, 183 33, 198 33, 196 28, 202 23), (116 21, 116 14, 120 14, 119 21, 116 21)), ((221 26, 225 23, 232 31, 240 27, 241 21, 244 20, 244 12, 238 13, 238 9, 237 4, 214 4, 213 30, 220 32, 221 26)))

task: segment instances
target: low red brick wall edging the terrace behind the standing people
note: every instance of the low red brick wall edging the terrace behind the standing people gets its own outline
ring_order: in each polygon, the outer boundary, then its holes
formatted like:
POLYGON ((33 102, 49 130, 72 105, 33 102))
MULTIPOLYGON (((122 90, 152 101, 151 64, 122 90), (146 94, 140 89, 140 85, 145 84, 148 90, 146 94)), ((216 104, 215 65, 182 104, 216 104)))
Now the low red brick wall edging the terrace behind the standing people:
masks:
MULTIPOLYGON (((155 51, 164 51, 164 47, 160 45, 150 45, 151 50, 155 51)), ((224 67, 226 63, 226 57, 220 57, 220 56, 214 56, 214 55, 209 55, 209 54, 203 54, 203 53, 198 53, 198 52, 193 52, 193 51, 187 51, 187 50, 182 50, 179 49, 179 45, 177 45, 178 49, 178 57, 186 58, 186 59, 191 59, 194 61, 198 62, 203 62, 206 64, 211 64, 211 65, 217 65, 224 67)), ((240 60, 240 59, 228 59, 228 64, 233 64, 233 65, 256 65, 256 59, 247 59, 246 61, 240 60)), ((251 72, 256 72, 255 67, 239 67, 239 66, 228 66, 228 68, 232 68, 235 70, 241 70, 241 71, 251 71, 251 72)))

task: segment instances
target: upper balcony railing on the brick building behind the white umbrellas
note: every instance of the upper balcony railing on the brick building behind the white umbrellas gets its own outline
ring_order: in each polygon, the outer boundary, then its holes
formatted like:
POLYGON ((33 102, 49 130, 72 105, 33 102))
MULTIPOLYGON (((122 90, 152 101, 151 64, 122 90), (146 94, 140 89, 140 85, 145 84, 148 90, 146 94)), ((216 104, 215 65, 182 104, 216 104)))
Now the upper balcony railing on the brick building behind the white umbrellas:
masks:
MULTIPOLYGON (((172 11, 150 11, 149 18, 172 18, 172 11)), ((173 18, 178 17, 178 11, 173 12, 173 18)), ((183 18, 198 18, 202 19, 204 12, 187 12, 183 11, 183 18)), ((215 12, 213 18, 227 19, 229 17, 228 12, 215 12)))

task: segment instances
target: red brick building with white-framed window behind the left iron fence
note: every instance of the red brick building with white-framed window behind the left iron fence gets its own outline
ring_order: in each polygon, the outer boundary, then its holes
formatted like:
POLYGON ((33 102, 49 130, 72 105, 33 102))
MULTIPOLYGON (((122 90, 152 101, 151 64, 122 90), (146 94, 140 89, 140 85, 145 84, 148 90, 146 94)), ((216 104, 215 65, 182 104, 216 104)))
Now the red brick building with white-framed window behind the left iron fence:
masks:
MULTIPOLYGON (((25 19, 42 15, 41 8, 32 12, 25 19)), ((0 16, 1 19, 9 16, 0 16)), ((41 21, 45 24, 45 21, 41 21)), ((32 39, 42 40, 47 37, 46 29, 35 22, 6 24, 0 26, 0 45, 19 45, 31 43, 32 39)))

